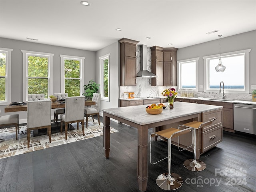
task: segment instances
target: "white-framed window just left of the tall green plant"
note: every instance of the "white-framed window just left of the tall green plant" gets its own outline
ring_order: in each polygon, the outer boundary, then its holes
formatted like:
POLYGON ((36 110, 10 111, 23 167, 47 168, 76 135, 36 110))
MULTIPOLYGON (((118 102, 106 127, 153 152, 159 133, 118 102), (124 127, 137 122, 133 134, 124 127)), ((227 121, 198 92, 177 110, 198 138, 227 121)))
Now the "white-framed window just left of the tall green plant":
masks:
POLYGON ((84 93, 84 57, 60 55, 61 92, 68 96, 82 96, 84 93))

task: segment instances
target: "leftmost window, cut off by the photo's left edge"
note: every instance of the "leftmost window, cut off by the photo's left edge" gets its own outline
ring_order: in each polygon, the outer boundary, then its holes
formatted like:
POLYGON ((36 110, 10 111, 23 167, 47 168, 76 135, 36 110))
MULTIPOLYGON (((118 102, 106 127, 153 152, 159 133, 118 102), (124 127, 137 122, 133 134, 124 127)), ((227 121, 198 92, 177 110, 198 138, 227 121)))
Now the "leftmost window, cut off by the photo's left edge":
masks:
POLYGON ((0 48, 0 105, 6 105, 11 102, 12 50, 0 48))

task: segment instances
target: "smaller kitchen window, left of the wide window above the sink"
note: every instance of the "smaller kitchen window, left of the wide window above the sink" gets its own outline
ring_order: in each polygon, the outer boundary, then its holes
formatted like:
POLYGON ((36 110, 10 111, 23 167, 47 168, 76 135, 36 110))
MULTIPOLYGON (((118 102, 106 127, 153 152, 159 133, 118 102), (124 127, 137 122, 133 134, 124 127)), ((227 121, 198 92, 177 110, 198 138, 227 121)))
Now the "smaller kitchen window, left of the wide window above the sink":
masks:
POLYGON ((178 61, 178 89, 198 91, 198 58, 178 61))

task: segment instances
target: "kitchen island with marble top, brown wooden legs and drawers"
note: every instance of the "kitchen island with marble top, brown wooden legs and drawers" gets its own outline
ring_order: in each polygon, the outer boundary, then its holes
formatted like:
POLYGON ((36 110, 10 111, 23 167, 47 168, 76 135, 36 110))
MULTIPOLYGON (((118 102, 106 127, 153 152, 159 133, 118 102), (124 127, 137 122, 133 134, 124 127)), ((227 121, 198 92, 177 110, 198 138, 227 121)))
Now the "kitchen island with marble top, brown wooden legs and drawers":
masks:
MULTIPOLYGON (((168 103, 165 103, 168 105, 168 103)), ((210 118, 216 118, 214 122, 197 132, 197 158, 200 154, 214 147, 222 141, 222 106, 204 104, 174 102, 174 109, 166 108, 161 114, 151 115, 146 112, 147 105, 129 106, 120 108, 104 109, 104 150, 105 157, 110 152, 110 118, 128 124, 138 129, 138 185, 140 191, 146 191, 148 182, 148 129, 165 128, 165 126, 183 124, 193 120, 206 122, 210 118), (205 132, 205 134, 201 134, 205 132), (217 138, 210 139, 211 133, 217 138), (202 136, 201 136, 202 135, 202 136), (206 139, 204 140, 204 135, 206 139), (217 141, 216 141, 217 140, 217 141), (201 148, 202 143, 202 148, 201 148)), ((121 141, 120 141, 121 142, 121 141)), ((184 144, 185 146, 186 144, 184 144)))

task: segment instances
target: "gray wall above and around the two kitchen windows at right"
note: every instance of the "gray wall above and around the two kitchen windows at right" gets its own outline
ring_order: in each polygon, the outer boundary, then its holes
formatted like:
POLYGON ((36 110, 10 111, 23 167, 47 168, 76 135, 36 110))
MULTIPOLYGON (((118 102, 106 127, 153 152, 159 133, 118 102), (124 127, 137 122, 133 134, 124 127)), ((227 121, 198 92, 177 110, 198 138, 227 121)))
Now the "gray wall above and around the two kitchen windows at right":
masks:
MULTIPOLYGON (((222 36, 220 43, 221 53, 251 49, 249 53, 249 91, 251 93, 251 84, 256 85, 256 30, 229 37, 222 36)), ((178 49, 177 60, 200 57, 198 60, 198 83, 204 85, 204 60, 202 57, 214 54, 219 54, 218 34, 214 41, 178 49)), ((204 89, 198 89, 198 92, 203 91, 204 89)))

